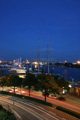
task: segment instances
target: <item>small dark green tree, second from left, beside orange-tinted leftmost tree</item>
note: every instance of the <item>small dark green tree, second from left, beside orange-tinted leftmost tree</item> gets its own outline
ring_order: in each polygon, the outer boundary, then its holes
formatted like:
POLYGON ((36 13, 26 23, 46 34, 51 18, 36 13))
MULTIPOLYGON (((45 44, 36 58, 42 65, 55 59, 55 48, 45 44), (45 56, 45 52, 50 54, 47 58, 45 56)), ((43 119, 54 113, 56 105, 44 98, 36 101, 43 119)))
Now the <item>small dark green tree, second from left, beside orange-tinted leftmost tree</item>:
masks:
POLYGON ((15 87, 21 86, 21 84, 22 84, 22 79, 19 78, 18 75, 15 74, 10 75, 9 86, 14 86, 14 94, 15 94, 15 87))

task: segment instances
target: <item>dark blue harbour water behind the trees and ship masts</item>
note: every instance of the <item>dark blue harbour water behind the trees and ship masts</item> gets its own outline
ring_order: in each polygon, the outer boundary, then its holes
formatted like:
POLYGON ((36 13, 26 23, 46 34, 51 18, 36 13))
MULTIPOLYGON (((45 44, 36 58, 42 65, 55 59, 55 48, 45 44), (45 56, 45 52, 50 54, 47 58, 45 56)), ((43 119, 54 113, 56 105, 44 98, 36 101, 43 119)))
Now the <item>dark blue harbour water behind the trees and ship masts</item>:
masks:
MULTIPOLYGON (((27 66, 27 69, 30 66, 27 66)), ((32 66, 33 68, 37 69, 38 65, 32 66)), ((47 65, 39 66, 40 70, 47 72, 47 65)), ((50 72, 55 74, 58 74, 60 77, 64 77, 66 80, 69 81, 80 81, 80 69, 79 68, 69 68, 69 67, 57 67, 57 66, 49 66, 50 72)), ((4 73, 9 73, 9 69, 5 68, 3 69, 4 73)))

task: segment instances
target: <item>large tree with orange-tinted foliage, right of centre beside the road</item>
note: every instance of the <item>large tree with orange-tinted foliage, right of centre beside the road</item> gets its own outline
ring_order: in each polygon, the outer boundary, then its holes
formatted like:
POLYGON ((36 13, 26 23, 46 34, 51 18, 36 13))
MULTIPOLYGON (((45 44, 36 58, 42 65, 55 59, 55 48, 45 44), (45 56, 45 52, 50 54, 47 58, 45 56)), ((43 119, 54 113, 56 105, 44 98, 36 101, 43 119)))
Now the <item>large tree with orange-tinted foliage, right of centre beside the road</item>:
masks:
POLYGON ((53 75, 38 75, 37 76, 38 79, 38 88, 41 89, 41 91, 44 93, 45 96, 45 102, 46 102, 46 96, 49 93, 56 93, 59 91, 59 87, 56 84, 56 82, 54 82, 54 77, 53 75))

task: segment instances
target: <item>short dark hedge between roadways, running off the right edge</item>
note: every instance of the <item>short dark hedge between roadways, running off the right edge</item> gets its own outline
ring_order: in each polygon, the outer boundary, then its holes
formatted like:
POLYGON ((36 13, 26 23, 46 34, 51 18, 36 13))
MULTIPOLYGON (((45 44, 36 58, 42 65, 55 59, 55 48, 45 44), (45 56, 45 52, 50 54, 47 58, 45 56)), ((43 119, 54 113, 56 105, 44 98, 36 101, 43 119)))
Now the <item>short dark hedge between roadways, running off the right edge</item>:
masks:
POLYGON ((63 112, 66 112, 66 113, 68 113, 68 114, 70 114, 70 115, 72 115, 74 117, 80 118, 80 113, 77 113, 77 112, 75 112, 73 110, 69 110, 69 109, 61 107, 61 106, 57 106, 56 109, 61 110, 63 112))

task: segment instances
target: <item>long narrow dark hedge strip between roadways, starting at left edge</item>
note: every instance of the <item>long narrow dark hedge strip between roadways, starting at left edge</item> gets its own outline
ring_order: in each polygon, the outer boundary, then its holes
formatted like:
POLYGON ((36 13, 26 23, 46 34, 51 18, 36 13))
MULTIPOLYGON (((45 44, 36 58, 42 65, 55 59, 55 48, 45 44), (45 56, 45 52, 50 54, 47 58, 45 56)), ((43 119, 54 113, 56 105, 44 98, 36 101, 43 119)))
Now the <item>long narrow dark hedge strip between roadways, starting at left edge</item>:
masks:
POLYGON ((36 102, 36 103, 40 103, 40 104, 47 105, 47 106, 50 106, 50 107, 53 106, 52 103, 45 102, 45 101, 43 101, 43 100, 36 99, 36 98, 33 98, 33 97, 29 97, 29 96, 24 96, 24 95, 9 93, 9 92, 6 92, 6 91, 0 91, 0 94, 11 95, 11 96, 15 96, 15 97, 19 97, 19 98, 31 100, 31 101, 34 101, 34 102, 36 102))

